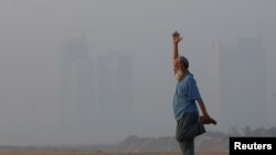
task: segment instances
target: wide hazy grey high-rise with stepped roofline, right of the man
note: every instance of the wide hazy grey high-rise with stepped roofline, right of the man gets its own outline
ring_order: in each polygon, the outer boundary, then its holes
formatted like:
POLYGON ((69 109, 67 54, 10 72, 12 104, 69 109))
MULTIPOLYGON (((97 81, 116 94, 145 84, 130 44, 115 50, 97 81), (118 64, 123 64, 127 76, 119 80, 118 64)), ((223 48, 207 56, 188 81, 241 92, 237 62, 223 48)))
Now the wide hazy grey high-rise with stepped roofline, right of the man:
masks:
POLYGON ((262 36, 238 38, 237 46, 220 49, 221 126, 265 125, 266 52, 262 36))

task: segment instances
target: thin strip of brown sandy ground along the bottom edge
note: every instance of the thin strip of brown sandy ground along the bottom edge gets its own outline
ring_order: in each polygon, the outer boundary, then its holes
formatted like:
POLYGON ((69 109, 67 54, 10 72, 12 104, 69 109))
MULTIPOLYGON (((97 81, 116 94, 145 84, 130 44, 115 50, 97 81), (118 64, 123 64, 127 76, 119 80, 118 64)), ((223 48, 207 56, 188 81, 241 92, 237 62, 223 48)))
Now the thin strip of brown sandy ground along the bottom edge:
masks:
MULTIPOLYGON (((181 155, 180 153, 88 153, 47 151, 0 151, 0 155, 181 155)), ((229 155, 229 153, 195 153, 195 155, 229 155)))

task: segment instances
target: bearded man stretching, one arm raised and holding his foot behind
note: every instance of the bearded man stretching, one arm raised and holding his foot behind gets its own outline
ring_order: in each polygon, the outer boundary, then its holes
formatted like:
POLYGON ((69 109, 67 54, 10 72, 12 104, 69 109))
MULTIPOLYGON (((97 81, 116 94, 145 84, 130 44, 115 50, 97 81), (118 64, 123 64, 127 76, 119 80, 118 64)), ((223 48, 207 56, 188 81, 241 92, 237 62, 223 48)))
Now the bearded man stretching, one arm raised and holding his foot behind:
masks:
POLYGON ((172 34, 172 63, 177 88, 173 97, 173 113, 177 120, 176 140, 183 155, 194 155, 194 137, 205 133, 204 124, 216 124, 205 109, 193 75, 189 71, 189 60, 178 53, 182 40, 179 32, 172 34), (202 115, 199 117, 200 107, 202 115))

